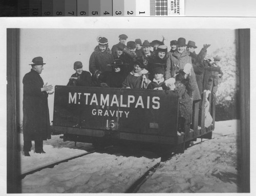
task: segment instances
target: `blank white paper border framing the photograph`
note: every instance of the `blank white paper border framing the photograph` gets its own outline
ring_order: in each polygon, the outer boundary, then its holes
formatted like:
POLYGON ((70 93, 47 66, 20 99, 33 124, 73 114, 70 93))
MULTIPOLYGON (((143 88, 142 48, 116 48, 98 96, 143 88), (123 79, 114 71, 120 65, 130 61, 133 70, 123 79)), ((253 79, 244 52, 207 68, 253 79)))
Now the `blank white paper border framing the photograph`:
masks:
MULTIPOLYGON (((88 18, 0 18, 0 59, 2 66, 0 66, 1 72, 1 96, 0 96, 0 119, 1 119, 1 136, 3 138, 0 144, 0 152, 3 157, 3 161, 0 164, 0 183, 1 191, 6 193, 6 29, 7 28, 54 28, 54 29, 250 29, 250 72, 251 72, 251 88, 250 88, 250 118, 255 119, 255 112, 253 112, 256 103, 256 89, 253 86, 256 84, 254 73, 256 73, 256 18, 250 17, 88 17, 88 18), (118 23, 118 26, 116 25, 118 23), (168 25, 169 24, 169 25, 168 25)), ((256 125, 253 122, 250 123, 250 130, 255 130, 256 125)), ((255 145, 254 139, 256 138, 255 132, 250 132, 251 149, 250 149, 250 174, 251 174, 251 194, 254 192, 253 185, 256 181, 255 167, 255 145)))

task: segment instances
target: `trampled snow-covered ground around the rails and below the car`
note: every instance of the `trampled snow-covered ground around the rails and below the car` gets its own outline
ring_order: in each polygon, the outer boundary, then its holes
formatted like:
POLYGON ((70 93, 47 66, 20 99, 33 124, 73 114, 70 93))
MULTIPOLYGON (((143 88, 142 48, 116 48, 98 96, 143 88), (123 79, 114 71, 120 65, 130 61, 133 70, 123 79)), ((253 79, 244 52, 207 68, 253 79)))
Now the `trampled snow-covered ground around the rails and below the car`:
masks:
MULTIPOLYGON (((194 145, 184 154, 161 163, 138 192, 237 192, 238 120, 216 122, 213 139, 194 145)), ((20 135, 23 144, 22 134, 20 135)), ((198 139, 199 140, 199 139, 198 139)), ((85 153, 70 149, 74 142, 63 142, 59 135, 44 141, 46 154, 31 157, 20 152, 21 170, 26 173, 54 161, 85 153)), ((90 151, 91 144, 77 143, 90 151)), ((22 146, 20 146, 22 149, 22 146)), ((119 193, 129 188, 160 158, 143 152, 134 156, 93 153, 46 168, 22 180, 23 193, 119 193)))

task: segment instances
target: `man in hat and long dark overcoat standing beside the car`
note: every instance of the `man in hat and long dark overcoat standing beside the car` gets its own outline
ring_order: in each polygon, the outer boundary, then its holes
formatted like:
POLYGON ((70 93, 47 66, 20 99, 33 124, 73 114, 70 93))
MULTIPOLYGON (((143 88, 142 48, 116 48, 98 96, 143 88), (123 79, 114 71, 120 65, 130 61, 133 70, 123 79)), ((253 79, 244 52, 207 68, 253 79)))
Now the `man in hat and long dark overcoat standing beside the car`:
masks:
POLYGON ((35 153, 45 153, 42 141, 51 138, 48 94, 52 85, 44 85, 40 77, 44 69, 42 57, 32 60, 30 72, 23 78, 23 135, 25 156, 30 156, 32 140, 35 141, 35 153))

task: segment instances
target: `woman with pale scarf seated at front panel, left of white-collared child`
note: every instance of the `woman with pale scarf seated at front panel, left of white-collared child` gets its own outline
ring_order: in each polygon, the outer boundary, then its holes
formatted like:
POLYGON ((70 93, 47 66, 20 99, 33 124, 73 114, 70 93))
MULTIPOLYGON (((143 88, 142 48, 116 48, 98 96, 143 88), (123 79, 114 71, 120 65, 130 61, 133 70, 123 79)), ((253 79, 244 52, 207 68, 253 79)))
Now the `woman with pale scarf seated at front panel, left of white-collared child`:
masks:
POLYGON ((146 89, 149 83, 148 71, 142 63, 136 61, 134 70, 123 81, 123 88, 146 89))

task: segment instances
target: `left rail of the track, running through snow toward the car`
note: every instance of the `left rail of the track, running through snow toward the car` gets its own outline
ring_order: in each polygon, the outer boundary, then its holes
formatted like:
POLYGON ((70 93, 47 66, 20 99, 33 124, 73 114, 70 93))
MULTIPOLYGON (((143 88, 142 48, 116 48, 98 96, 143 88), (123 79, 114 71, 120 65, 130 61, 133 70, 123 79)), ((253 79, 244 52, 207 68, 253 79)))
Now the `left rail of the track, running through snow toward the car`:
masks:
MULTIPOLYGON (((87 153, 83 153, 81 155, 77 155, 77 156, 74 156, 74 157, 70 157, 70 158, 67 158, 67 159, 63 159, 63 160, 60 160, 60 161, 57 161, 57 162, 54 162, 54 163, 51 163, 51 164, 48 164, 48 165, 45 165, 45 166, 42 166, 42 167, 39 167, 39 168, 36 168, 36 169, 33 169, 33 170, 30 170, 22 175, 19 176, 20 180, 24 179, 27 175, 30 175, 30 174, 34 174, 36 173, 37 171, 40 171, 42 169, 45 169, 45 168, 53 168, 55 165, 58 165, 60 163, 65 163, 65 162, 68 162, 70 160, 73 160, 73 159, 76 159, 78 157, 83 157, 83 156, 86 156, 86 155, 90 155, 92 153, 97 153, 97 152, 101 152, 103 150, 106 150, 106 149, 109 149, 109 148, 112 148, 113 146, 107 146, 105 148, 102 148, 102 149, 95 149, 91 152, 87 152, 87 153)), ((73 148, 73 149, 82 149, 83 147, 78 147, 78 148, 73 148)))

